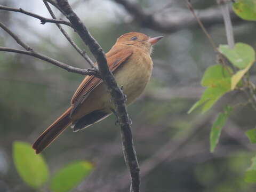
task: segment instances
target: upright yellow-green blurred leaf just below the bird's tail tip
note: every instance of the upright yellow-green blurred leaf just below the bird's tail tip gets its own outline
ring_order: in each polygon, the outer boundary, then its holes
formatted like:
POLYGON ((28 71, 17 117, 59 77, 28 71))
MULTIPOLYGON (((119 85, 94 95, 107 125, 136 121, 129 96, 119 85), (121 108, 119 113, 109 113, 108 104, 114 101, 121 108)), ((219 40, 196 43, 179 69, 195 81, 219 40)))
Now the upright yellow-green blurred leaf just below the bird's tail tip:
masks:
POLYGON ((41 155, 36 155, 26 142, 13 142, 13 161, 20 177, 33 188, 41 187, 49 178, 49 169, 41 155))

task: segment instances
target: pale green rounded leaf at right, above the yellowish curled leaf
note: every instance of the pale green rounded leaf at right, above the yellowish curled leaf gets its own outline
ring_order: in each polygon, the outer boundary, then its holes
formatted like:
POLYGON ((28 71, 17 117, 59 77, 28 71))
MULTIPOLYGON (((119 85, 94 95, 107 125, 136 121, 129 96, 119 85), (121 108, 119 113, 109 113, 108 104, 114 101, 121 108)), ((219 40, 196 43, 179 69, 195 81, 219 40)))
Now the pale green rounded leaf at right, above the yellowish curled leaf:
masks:
POLYGON ((253 48, 245 43, 236 43, 233 49, 230 49, 228 45, 220 45, 219 51, 239 69, 246 68, 255 60, 253 48))

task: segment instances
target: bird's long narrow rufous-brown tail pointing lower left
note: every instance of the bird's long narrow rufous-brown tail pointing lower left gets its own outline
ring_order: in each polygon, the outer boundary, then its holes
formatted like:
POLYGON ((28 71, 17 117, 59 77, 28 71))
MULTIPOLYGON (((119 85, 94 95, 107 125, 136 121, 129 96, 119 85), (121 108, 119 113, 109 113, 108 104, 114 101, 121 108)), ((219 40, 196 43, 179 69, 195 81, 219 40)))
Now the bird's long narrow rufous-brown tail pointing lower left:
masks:
POLYGON ((33 149, 36 154, 41 153, 47 146, 49 146, 70 124, 69 117, 71 107, 69 107, 53 124, 51 124, 34 142, 33 149))

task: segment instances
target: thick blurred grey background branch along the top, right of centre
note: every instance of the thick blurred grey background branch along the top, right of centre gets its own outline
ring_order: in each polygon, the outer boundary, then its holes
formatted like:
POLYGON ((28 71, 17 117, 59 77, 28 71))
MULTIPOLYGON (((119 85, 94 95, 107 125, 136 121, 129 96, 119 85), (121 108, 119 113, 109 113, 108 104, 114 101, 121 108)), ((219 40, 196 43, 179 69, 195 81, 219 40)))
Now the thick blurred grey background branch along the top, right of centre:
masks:
MULTIPOLYGON (((196 27, 197 21, 187 12, 187 10, 180 12, 145 12, 139 4, 132 3, 127 0, 114 0, 116 3, 122 5, 124 9, 129 12, 133 21, 139 23, 142 27, 147 27, 160 31, 163 33, 174 33, 175 31, 185 29, 188 27, 196 27)), ((206 27, 223 23, 221 11, 218 8, 209 8, 199 11, 198 18, 204 23, 206 27)), ((241 21, 236 15, 230 11, 231 18, 234 21, 241 21)))

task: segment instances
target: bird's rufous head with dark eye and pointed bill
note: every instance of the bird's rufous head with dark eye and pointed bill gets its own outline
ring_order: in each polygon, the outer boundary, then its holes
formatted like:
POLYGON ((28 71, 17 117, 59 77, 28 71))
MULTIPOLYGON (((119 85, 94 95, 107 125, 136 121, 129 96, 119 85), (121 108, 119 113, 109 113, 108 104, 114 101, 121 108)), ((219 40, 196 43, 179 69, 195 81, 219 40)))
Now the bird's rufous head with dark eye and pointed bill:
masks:
POLYGON ((149 54, 151 54, 152 46, 162 38, 163 36, 150 38, 149 36, 142 33, 130 32, 119 37, 116 43, 138 46, 142 49, 146 49, 149 52, 149 54))

